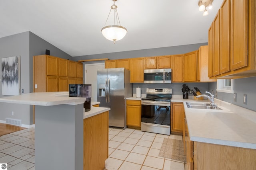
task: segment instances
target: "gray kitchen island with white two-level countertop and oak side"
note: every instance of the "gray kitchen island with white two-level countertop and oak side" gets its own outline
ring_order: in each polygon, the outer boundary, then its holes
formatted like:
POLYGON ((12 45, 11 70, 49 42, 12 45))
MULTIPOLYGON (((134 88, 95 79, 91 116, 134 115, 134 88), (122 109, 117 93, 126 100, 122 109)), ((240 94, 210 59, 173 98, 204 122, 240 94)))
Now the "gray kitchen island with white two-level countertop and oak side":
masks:
MULTIPOLYGON (((104 115, 101 121, 108 127, 106 115, 110 108, 92 107, 91 111, 83 113, 84 100, 85 98, 68 97, 67 92, 30 93, 0 98, 0 102, 35 105, 36 170, 85 168, 84 134, 87 131, 84 131, 84 125, 94 123, 95 116, 104 115)), ((89 135, 92 131, 94 129, 90 130, 89 135)), ((104 133, 105 138, 108 137, 108 131, 105 130, 104 133)), ((108 145, 103 147, 108 150, 106 146, 108 145)), ((91 150, 85 152, 90 153, 91 150)))

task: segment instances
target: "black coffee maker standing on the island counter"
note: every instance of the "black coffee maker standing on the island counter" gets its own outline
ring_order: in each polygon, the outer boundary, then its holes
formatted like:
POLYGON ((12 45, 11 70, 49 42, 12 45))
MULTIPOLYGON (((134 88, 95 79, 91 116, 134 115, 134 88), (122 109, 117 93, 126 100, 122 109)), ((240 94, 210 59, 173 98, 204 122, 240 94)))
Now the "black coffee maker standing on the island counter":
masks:
POLYGON ((69 84, 69 97, 86 98, 84 101, 84 111, 90 111, 92 84, 69 84))

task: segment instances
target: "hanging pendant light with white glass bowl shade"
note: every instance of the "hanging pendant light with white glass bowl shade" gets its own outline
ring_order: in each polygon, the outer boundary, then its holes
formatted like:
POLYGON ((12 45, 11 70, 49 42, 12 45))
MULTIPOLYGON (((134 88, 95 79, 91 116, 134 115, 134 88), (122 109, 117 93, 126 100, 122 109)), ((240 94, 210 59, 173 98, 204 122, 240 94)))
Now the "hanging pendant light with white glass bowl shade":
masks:
POLYGON ((104 27, 101 29, 101 33, 106 39, 113 41, 115 44, 116 41, 124 38, 124 36, 127 33, 127 29, 120 25, 120 20, 119 20, 118 13, 117 13, 117 6, 115 5, 115 2, 117 0, 113 0, 113 1, 114 1, 114 4, 110 7, 110 12, 108 14, 108 17, 110 16, 111 11, 113 11, 114 25, 106 26, 106 23, 108 21, 108 18, 107 18, 104 27))

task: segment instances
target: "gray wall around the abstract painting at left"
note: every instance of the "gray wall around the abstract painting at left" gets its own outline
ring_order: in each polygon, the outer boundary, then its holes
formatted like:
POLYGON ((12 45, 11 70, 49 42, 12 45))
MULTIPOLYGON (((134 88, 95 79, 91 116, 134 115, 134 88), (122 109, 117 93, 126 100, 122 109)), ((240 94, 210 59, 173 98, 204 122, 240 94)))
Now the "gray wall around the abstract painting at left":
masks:
MULTIPOLYGON (((53 56, 72 59, 70 55, 30 31, 0 38, 0 59, 20 55, 21 88, 24 89, 24 94, 33 92, 33 56, 45 54, 45 49, 49 49, 53 56)), ((0 67, 2 75, 2 65, 0 67)), ((0 91, 0 97, 6 97, 2 95, 2 83, 0 83, 0 91)), ((22 124, 25 125, 33 124, 32 106, 0 102, 0 108, 1 121, 5 121, 8 117, 21 119, 22 124), (13 116, 12 111, 14 111, 13 116)))

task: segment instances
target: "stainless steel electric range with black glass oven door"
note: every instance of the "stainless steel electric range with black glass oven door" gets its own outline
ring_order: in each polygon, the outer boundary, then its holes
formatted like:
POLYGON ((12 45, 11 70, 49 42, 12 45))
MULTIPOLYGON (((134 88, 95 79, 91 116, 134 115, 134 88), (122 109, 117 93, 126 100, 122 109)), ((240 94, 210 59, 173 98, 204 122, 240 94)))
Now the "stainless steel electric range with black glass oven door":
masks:
POLYGON ((172 88, 147 88, 141 101, 141 131, 170 135, 172 88))

